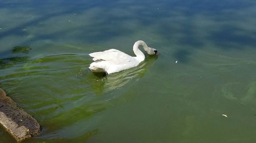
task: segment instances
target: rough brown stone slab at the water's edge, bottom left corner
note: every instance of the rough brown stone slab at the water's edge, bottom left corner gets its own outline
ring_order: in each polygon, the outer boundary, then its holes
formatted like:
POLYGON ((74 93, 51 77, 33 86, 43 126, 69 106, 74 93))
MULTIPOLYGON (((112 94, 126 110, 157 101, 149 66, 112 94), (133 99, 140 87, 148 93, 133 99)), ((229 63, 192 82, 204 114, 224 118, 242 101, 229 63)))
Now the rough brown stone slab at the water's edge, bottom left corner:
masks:
POLYGON ((40 133, 39 123, 0 88, 0 123, 18 141, 40 133))

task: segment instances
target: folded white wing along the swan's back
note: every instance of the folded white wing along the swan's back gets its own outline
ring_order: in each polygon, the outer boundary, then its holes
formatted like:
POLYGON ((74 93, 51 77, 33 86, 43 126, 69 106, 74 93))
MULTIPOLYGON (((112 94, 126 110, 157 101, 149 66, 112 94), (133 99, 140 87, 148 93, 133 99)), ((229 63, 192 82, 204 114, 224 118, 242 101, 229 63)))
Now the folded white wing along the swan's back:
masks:
POLYGON ((109 49, 105 51, 100 52, 93 52, 89 54, 93 57, 93 61, 97 60, 104 60, 104 61, 110 61, 110 62, 124 62, 124 61, 131 61, 132 56, 121 52, 117 49, 109 49))

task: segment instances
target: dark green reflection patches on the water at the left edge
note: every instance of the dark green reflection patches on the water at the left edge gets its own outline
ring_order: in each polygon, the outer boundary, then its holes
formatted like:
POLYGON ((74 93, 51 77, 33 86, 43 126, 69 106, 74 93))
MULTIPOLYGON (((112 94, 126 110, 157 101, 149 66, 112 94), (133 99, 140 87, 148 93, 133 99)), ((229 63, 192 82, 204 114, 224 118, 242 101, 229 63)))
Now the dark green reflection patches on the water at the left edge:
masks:
MULTIPOLYGON (((0 69, 5 69, 14 66, 15 64, 27 61, 29 59, 29 56, 24 55, 28 54, 31 48, 29 46, 15 46, 12 48, 11 53, 12 55, 15 54, 15 56, 11 56, 10 58, 4 58, 0 59, 0 69), (20 53, 20 54, 18 54, 20 53), (17 56, 18 54, 18 56, 17 56)), ((0 54, 1 55, 1 54, 0 54)))

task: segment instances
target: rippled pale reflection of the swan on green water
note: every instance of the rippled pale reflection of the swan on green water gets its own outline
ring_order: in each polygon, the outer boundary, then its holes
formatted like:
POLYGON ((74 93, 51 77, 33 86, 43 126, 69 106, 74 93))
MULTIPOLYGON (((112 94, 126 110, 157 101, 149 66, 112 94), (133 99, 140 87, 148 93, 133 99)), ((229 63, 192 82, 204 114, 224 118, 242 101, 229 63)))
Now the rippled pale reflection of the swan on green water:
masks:
POLYGON ((120 89, 130 80, 143 77, 156 59, 157 56, 147 56, 139 66, 107 76, 104 76, 103 73, 91 73, 89 74, 91 81, 89 84, 96 94, 120 89))

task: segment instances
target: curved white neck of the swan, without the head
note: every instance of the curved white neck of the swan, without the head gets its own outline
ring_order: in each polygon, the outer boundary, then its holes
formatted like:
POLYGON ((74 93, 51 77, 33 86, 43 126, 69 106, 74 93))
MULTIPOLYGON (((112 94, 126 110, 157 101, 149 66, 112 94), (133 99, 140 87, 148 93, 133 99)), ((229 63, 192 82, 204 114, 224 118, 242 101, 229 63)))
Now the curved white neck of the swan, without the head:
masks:
POLYGON ((142 46, 142 48, 146 51, 148 49, 148 46, 144 41, 137 41, 133 45, 133 51, 136 55, 136 59, 140 62, 145 60, 145 54, 139 49, 139 46, 142 46))

